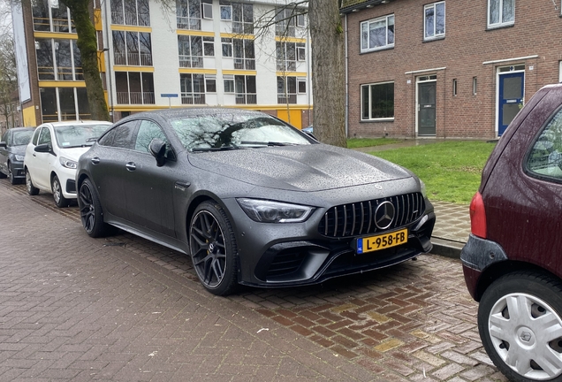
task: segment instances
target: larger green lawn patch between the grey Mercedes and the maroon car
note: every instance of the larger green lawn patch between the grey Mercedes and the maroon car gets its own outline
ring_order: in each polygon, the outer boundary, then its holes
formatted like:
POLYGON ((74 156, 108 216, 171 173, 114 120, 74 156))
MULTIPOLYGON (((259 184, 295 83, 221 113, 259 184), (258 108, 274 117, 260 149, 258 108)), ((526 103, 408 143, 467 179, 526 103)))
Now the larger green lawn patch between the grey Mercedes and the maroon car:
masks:
POLYGON ((486 141, 444 141, 369 154, 414 172, 425 183, 429 200, 469 203, 494 147, 486 141))

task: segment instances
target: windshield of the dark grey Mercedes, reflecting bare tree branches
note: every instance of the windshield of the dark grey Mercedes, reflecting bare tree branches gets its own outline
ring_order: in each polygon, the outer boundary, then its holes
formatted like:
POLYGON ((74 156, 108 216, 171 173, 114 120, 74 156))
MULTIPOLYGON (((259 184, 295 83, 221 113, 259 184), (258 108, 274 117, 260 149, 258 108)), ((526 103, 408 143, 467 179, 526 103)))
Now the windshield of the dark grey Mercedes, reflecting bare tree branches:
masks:
POLYGON ((170 122, 184 147, 191 151, 310 144, 297 129, 270 116, 237 112, 176 118, 170 122))

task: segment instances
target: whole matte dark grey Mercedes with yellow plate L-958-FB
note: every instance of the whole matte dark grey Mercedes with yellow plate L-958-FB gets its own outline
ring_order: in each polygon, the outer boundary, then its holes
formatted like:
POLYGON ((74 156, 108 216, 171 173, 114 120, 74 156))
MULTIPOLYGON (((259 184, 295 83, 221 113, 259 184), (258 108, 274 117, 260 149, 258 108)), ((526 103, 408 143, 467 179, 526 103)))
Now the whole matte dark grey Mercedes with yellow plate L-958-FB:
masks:
POLYGON ((431 248, 433 206, 412 172, 318 143, 259 111, 134 114, 80 157, 82 224, 189 254, 201 284, 304 286, 431 248))

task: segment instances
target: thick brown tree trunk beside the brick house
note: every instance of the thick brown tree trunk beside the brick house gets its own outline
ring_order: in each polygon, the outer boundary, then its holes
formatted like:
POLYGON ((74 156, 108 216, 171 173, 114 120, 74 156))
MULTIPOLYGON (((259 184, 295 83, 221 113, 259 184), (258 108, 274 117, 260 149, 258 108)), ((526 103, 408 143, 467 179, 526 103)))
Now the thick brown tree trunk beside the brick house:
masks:
POLYGON ((346 147, 346 62, 339 1, 309 0, 308 19, 314 134, 323 143, 346 147))

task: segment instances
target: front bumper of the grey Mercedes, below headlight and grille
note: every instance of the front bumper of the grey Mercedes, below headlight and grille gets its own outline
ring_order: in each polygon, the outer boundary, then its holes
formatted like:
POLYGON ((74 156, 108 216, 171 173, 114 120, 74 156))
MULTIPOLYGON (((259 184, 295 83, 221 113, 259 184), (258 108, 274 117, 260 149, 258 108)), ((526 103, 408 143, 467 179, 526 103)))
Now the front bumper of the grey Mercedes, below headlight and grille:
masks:
POLYGON ((318 219, 295 225, 263 225, 242 219, 242 224, 237 222, 241 233, 239 282, 253 287, 312 285, 399 264, 428 253, 436 217, 429 202, 426 207, 421 218, 405 226, 406 243, 361 255, 355 249, 357 237, 326 238, 318 233, 318 219))

